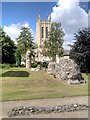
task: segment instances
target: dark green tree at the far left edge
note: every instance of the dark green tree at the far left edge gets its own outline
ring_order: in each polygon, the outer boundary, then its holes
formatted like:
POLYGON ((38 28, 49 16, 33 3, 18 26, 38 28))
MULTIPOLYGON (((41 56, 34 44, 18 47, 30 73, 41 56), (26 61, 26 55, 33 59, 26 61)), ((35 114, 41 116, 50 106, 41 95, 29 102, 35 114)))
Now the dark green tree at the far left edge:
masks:
POLYGON ((0 28, 0 44, 2 45, 2 63, 13 64, 15 60, 15 44, 11 38, 0 28))

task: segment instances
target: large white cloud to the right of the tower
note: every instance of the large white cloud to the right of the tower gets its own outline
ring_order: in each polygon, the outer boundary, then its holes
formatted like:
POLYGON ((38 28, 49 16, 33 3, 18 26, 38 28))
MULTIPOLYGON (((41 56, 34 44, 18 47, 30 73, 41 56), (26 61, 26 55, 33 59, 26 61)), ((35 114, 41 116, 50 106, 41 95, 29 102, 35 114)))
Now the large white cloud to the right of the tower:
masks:
POLYGON ((79 6, 79 0, 59 0, 51 13, 52 22, 61 22, 65 33, 64 48, 72 43, 73 34, 80 28, 88 27, 88 14, 79 6))

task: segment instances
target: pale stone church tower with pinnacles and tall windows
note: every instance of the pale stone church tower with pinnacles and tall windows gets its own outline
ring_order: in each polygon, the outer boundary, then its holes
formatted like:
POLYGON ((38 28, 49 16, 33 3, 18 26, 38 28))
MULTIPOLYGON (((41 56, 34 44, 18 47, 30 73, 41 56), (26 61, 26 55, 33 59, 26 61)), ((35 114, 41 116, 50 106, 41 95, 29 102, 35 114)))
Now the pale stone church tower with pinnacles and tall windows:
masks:
POLYGON ((48 61, 49 58, 43 56, 42 48, 44 47, 44 41, 48 38, 48 32, 51 29, 51 16, 49 15, 47 20, 42 21, 40 15, 37 17, 36 21, 36 44, 37 49, 37 61, 48 61))

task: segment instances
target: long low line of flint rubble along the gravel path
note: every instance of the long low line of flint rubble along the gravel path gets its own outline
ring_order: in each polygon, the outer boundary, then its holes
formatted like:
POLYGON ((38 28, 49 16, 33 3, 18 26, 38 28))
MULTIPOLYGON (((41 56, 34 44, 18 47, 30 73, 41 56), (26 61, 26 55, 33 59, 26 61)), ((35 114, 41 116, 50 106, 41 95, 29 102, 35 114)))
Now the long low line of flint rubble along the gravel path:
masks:
POLYGON ((71 105, 58 105, 55 107, 15 107, 8 113, 8 117, 20 116, 20 115, 32 115, 39 113, 59 113, 59 112, 71 112, 79 110, 89 110, 90 106, 85 104, 71 104, 71 105))

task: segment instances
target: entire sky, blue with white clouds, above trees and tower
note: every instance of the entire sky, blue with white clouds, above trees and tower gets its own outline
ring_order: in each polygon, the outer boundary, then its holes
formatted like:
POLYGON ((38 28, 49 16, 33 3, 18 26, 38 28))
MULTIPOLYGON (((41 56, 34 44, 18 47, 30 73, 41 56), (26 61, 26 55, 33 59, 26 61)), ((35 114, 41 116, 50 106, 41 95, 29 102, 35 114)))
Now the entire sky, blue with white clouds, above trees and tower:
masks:
POLYGON ((36 34, 36 19, 40 14, 45 20, 51 14, 52 22, 61 22, 65 33, 64 48, 73 43, 73 33, 79 28, 88 26, 88 3, 79 3, 78 0, 59 0, 56 2, 3 2, 2 27, 14 41, 20 34, 21 26, 30 27, 34 36, 36 34))

